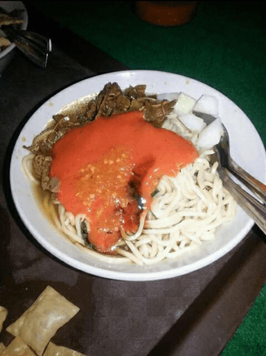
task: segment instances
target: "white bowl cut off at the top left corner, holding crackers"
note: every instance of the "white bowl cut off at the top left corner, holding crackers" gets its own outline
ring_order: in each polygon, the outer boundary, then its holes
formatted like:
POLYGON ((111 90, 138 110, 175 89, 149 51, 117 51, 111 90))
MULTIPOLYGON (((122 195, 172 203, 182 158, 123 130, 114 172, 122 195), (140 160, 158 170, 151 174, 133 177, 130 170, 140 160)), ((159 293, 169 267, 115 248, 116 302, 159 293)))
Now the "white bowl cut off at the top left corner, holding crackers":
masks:
MULTIPOLYGON (((6 12, 13 10, 25 10, 21 14, 21 19, 24 20, 24 23, 20 25, 21 30, 26 30, 28 27, 28 12, 22 1, 0 1, 0 8, 3 8, 6 12)), ((0 52, 0 75, 3 73, 4 69, 12 59, 12 56, 15 51, 15 44, 10 44, 6 49, 0 52)))

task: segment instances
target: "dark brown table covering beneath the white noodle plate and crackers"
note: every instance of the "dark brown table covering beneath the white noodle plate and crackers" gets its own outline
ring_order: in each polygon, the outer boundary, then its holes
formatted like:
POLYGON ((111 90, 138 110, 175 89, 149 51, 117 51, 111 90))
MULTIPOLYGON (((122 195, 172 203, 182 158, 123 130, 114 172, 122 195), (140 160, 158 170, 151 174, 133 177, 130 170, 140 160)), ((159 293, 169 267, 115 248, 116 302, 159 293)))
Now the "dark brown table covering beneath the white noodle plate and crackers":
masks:
MULTIPOLYGON (((12 204, 9 161, 19 130, 49 96, 93 75, 57 48, 45 70, 17 52, 1 75, 0 305, 9 311, 4 328, 51 285, 80 307, 58 330, 56 344, 90 356, 218 355, 265 282, 266 248, 258 229, 227 256, 186 276, 114 281, 77 271, 44 251, 12 204)), ((10 335, 3 331, 0 341, 10 341, 10 335)))

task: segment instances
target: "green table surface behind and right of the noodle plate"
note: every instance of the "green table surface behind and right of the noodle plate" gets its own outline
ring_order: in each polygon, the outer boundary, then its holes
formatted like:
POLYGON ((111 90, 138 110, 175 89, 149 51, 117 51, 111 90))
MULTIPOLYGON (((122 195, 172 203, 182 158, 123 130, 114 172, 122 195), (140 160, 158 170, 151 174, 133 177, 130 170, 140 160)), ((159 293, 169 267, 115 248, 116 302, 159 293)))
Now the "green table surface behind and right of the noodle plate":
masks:
MULTIPOLYGON (((130 69, 177 73, 222 92, 245 112, 266 147, 263 1, 202 1, 193 21, 175 27, 142 21, 132 1, 30 3, 130 69)), ((222 356, 266 355, 265 329, 266 285, 222 356)))

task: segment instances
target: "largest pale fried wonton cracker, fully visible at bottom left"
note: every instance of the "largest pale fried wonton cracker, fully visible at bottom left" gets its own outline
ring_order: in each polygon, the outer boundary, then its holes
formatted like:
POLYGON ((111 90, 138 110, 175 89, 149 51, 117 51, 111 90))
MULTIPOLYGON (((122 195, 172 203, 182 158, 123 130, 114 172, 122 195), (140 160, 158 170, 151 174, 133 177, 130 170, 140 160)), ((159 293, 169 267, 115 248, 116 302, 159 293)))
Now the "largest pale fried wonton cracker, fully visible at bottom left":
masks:
POLYGON ((55 332, 79 310, 76 305, 48 286, 33 305, 6 330, 14 336, 19 336, 40 356, 55 332))

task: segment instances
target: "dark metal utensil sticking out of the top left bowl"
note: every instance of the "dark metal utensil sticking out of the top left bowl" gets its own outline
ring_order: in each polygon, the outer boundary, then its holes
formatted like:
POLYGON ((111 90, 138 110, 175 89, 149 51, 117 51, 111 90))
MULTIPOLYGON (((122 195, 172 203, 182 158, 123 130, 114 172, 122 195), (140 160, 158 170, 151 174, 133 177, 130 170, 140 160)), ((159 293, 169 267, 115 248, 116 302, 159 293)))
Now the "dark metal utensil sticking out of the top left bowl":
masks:
POLYGON ((52 51, 52 42, 38 33, 19 30, 13 26, 1 26, 1 30, 21 52, 38 66, 46 68, 48 55, 52 51))

